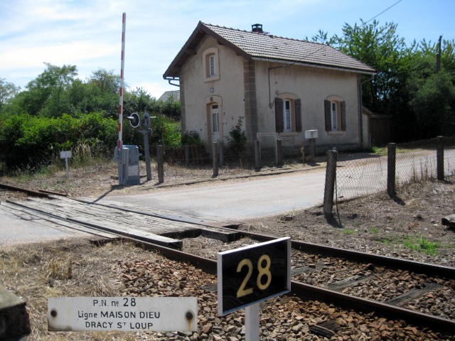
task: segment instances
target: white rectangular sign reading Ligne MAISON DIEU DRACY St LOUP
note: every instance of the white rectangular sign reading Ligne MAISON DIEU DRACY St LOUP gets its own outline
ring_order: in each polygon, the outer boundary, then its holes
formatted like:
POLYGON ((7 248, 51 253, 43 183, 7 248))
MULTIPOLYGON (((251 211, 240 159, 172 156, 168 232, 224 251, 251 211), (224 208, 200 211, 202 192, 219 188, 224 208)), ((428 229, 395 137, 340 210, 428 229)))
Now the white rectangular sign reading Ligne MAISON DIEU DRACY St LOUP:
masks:
POLYGON ((50 297, 48 329, 197 331, 196 297, 50 297))

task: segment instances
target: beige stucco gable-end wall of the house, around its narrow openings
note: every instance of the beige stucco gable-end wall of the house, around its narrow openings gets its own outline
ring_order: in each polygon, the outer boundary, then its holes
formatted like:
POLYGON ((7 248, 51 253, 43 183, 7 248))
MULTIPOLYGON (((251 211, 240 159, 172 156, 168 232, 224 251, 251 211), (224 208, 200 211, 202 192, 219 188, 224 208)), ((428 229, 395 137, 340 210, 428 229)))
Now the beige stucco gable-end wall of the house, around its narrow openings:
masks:
POLYGON ((242 58, 208 37, 198 47, 197 54, 188 59, 182 72, 185 79, 186 131, 197 131, 206 144, 211 142, 208 134, 207 104, 212 97, 215 102, 221 101, 218 103, 220 139, 227 141, 230 129, 237 124, 239 117, 245 117, 242 58), (220 78, 205 82, 203 51, 208 48, 218 49, 220 78))

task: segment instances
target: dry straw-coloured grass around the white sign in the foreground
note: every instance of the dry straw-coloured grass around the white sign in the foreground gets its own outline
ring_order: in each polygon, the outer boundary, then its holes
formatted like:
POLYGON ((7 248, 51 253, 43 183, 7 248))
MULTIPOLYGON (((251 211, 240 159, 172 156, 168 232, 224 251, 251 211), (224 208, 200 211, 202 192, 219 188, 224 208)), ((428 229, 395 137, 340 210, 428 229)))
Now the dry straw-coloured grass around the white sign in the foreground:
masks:
MULTIPOLYGON (((27 303, 29 340, 156 340, 136 332, 49 332, 49 297, 122 296, 118 259, 159 257, 125 242, 95 247, 87 239, 0 249, 1 283, 27 303)), ((149 333, 150 334, 150 333, 149 333)))

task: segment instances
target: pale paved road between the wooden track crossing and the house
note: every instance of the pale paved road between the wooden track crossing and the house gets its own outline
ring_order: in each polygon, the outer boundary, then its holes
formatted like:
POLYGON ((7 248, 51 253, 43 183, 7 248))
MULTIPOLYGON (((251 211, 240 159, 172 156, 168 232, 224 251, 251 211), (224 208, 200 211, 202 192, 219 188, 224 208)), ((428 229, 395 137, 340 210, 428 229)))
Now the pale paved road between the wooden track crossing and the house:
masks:
MULTIPOLYGON (((449 161, 455 159, 455 150, 445 151, 444 156, 446 174, 449 174, 453 171, 453 163, 449 161), (450 165, 452 169, 449 169, 450 165)), ((358 197, 387 188, 387 157, 354 163, 354 166, 345 167, 346 171, 343 171, 342 165, 340 163, 341 168, 337 172, 338 197, 358 197)), ((435 175, 435 165, 434 151, 402 153, 397 156, 397 183, 410 180, 413 172, 419 174, 428 167, 434 168, 432 173, 435 175)), ((325 175, 325 169, 319 169, 141 195, 109 195, 104 199, 181 212, 208 220, 237 222, 321 204, 325 175)))

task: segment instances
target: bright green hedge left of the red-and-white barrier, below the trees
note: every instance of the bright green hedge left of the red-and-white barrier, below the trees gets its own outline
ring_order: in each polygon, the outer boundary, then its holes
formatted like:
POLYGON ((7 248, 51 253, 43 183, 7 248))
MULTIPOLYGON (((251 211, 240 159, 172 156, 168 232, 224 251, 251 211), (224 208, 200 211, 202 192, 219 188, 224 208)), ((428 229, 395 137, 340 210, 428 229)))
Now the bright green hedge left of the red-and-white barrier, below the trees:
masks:
POLYGON ((81 143, 108 153, 116 144, 117 131, 117 122, 102 113, 58 118, 13 116, 0 121, 0 160, 6 171, 33 171, 48 165, 60 151, 81 143))

